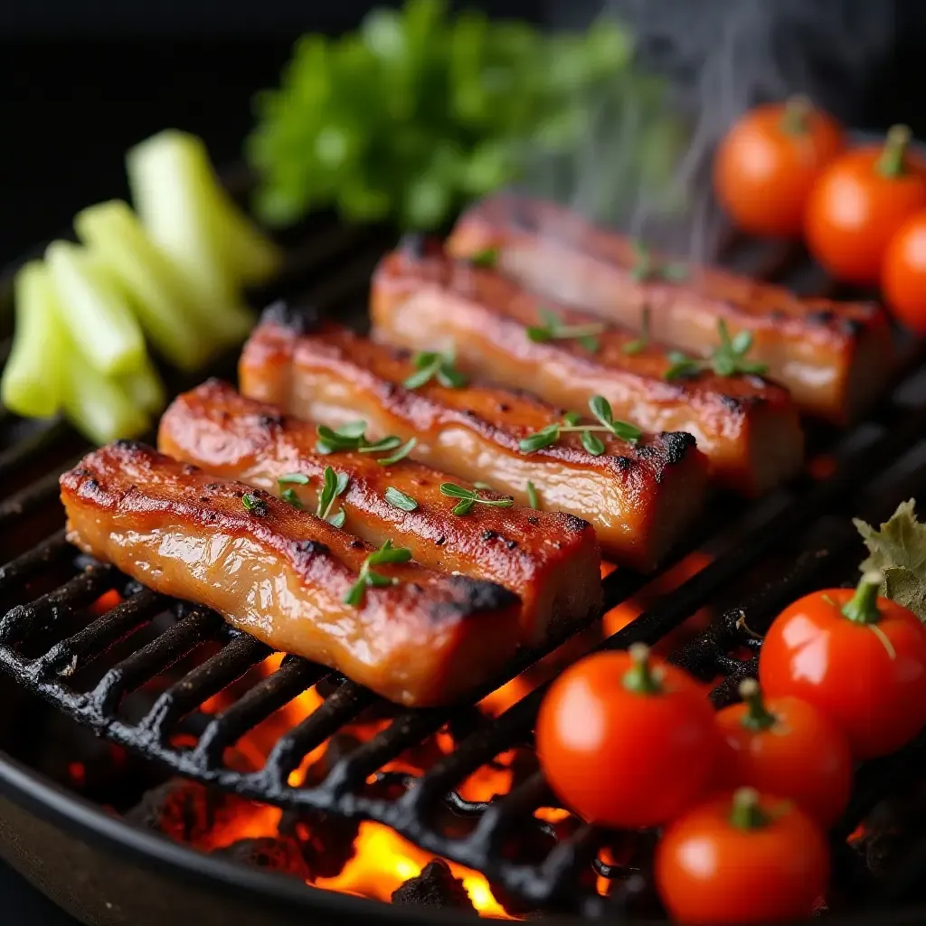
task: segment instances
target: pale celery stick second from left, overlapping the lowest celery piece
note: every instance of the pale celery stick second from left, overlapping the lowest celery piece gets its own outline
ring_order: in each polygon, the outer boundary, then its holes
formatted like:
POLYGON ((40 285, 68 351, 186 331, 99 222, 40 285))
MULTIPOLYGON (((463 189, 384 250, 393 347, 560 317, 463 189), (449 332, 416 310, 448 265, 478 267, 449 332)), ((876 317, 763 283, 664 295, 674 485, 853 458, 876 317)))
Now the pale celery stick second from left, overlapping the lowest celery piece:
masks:
POLYGON ((144 357, 144 336, 119 289, 88 252, 64 241, 48 245, 62 325, 101 373, 129 373, 144 357))

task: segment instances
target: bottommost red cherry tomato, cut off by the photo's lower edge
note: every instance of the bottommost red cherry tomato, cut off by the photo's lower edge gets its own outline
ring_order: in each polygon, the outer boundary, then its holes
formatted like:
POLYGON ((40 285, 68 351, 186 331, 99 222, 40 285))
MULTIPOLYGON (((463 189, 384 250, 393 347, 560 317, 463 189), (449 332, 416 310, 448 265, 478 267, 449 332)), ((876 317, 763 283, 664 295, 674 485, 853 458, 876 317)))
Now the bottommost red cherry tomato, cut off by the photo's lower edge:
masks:
POLYGON ((676 820, 656 850, 656 883, 672 920, 757 923, 809 915, 829 880, 820 828, 790 801, 752 788, 676 820))

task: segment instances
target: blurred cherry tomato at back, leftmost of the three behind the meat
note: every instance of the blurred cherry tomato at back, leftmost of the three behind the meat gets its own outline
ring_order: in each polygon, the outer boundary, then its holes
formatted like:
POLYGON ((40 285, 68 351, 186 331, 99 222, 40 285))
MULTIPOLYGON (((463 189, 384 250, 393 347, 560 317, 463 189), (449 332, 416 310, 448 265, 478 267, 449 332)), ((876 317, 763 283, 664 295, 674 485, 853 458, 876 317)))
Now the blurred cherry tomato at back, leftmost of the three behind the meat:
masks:
POLYGON ((804 97, 757 106, 720 143, 720 204, 744 232, 797 237, 814 182, 843 148, 842 126, 804 97))

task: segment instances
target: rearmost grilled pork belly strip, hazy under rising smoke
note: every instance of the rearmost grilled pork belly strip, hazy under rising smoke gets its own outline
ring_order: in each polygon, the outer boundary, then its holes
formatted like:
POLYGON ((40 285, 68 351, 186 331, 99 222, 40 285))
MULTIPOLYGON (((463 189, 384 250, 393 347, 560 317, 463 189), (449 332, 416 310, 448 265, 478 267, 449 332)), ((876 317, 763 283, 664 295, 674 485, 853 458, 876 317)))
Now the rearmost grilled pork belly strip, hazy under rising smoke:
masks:
MULTIPOLYGON (((799 298, 695 266, 678 282, 645 275, 631 239, 552 203, 489 199, 463 215, 447 246, 455 257, 494 248, 508 276, 633 331, 649 307, 653 337, 695 355, 707 357, 718 344, 725 319, 732 334, 753 333, 749 359, 768 364, 798 406, 837 424, 870 406, 893 366, 887 318, 876 305, 799 298)), ((658 266, 652 257, 651 267, 658 266)))

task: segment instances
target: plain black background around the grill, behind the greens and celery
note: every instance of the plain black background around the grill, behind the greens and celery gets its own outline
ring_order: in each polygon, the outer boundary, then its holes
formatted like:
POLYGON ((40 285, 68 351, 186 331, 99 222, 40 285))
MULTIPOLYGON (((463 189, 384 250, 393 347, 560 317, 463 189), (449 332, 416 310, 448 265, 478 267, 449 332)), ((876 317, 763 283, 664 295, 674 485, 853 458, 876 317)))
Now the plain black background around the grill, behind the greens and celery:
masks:
MULTIPOLYGON (((750 0, 612 2, 640 20, 644 53, 671 65, 691 89, 732 6, 739 15, 750 0)), ((65 230, 81 206, 124 194, 124 151, 155 131, 194 131, 219 163, 238 156, 250 126, 250 96, 275 83, 294 38, 350 28, 368 6, 361 0, 2 0, 0 262, 65 230)), ((563 24, 587 18, 598 3, 469 6, 563 24)), ((878 130, 903 120, 926 137, 923 0, 759 0, 759 7, 762 18, 745 40, 748 72, 734 71, 733 81, 753 81, 758 93, 761 86, 777 88, 757 73, 767 65, 751 54, 754 43, 787 63, 785 83, 819 87, 822 102, 852 124, 878 130)), ((15 926, 69 923, 2 865, 0 911, 0 920, 15 926)))

